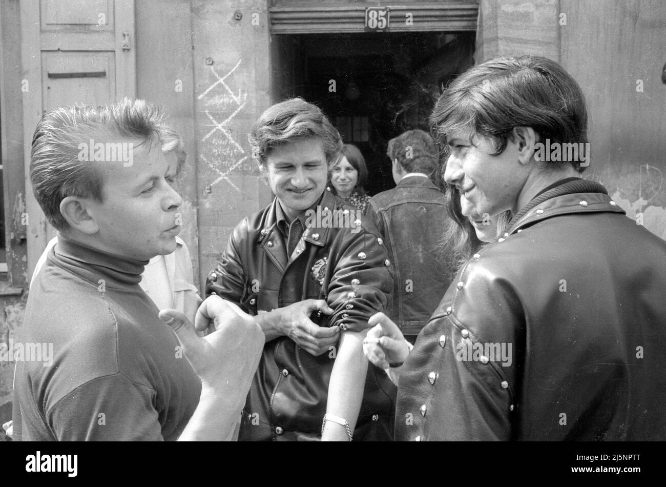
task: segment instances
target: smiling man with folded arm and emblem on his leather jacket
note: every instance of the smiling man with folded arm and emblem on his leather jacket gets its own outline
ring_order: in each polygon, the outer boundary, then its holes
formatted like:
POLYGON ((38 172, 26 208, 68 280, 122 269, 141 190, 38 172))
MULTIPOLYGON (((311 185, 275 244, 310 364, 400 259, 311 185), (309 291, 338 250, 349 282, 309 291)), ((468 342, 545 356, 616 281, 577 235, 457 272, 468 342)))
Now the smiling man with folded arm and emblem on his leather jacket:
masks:
POLYGON ((266 334, 239 440, 391 440, 396 389, 362 339, 390 296, 392 263, 372 223, 325 191, 340 135, 292 99, 251 137, 276 198, 238 224, 206 283, 266 334))

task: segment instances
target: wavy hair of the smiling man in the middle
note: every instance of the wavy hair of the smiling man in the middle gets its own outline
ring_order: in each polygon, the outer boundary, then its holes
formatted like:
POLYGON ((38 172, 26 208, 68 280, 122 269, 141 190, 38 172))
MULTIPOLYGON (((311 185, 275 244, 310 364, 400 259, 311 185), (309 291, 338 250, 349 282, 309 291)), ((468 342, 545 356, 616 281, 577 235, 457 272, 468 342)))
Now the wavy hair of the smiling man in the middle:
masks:
POLYGON ((321 109, 302 98, 285 100, 264 111, 252 126, 252 155, 265 167, 268 154, 276 147, 310 138, 322 143, 328 165, 336 161, 342 139, 321 109))

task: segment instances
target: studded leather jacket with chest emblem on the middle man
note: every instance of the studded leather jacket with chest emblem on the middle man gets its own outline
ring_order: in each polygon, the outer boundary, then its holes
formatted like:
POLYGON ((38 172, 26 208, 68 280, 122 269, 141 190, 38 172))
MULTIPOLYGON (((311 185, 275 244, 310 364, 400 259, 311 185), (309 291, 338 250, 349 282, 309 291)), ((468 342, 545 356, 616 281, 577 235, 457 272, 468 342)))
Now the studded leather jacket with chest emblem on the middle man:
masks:
MULTIPOLYGON (((328 191, 287 260, 276 228, 274 200, 244 219, 208 274, 206 296, 215 293, 250 314, 305 299, 324 299, 331 316, 312 316, 320 326, 360 331, 385 309, 392 265, 378 232, 356 208, 328 191), (327 217, 326 215, 332 215, 327 217), (328 220, 327 220, 328 219, 328 220)), ((326 413, 336 348, 314 357, 287 336, 267 342, 243 411, 239 440, 316 439, 326 413)), ((356 440, 392 440, 396 388, 369 365, 356 440)))

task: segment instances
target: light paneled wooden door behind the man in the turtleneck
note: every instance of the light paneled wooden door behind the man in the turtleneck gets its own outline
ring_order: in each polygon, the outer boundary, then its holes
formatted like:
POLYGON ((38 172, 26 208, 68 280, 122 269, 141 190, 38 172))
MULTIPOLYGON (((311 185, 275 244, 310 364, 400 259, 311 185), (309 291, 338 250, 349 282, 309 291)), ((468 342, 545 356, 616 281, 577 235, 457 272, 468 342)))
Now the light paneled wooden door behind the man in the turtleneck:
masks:
POLYGON ((27 280, 55 236, 29 180, 30 141, 39 117, 62 105, 103 105, 136 96, 134 0, 21 2, 27 280))

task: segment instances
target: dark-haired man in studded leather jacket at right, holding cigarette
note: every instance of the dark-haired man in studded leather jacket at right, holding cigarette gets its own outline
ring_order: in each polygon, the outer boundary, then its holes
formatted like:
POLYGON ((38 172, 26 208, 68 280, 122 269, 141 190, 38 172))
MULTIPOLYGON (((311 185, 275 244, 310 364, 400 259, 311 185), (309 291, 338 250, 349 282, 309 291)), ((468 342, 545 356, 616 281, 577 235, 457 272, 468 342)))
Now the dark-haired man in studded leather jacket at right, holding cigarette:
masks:
POLYGON ((390 336, 369 358, 406 360, 390 369, 397 438, 665 440, 666 242, 578 177, 580 87, 543 57, 494 59, 458 77, 432 121, 446 182, 479 215, 513 219, 460 268, 412 352, 371 318, 368 340, 390 336))

